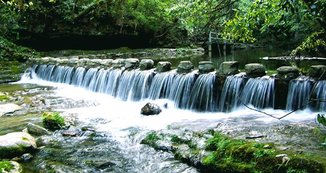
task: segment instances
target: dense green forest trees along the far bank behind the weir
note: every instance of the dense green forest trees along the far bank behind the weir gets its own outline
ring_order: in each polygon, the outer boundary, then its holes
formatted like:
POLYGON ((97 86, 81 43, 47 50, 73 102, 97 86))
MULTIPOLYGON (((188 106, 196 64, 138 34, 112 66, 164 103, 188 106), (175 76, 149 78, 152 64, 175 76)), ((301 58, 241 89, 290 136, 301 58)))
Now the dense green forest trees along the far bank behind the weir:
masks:
POLYGON ((85 40, 97 49, 189 47, 203 46, 214 30, 237 42, 308 55, 325 53, 325 14, 325 0, 2 0, 0 37, 2 45, 8 39, 35 49, 94 49, 78 45, 85 40))

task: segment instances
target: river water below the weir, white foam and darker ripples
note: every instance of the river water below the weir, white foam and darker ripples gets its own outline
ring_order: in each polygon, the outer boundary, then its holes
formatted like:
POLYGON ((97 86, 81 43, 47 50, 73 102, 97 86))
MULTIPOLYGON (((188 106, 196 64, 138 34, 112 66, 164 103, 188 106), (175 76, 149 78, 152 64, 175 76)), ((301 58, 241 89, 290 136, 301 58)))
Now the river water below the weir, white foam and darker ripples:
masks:
MULTIPOLYGON (((245 57, 244 54, 241 55, 245 57)), ((265 56, 257 56, 260 55, 265 56)), ((255 59, 260 62, 257 56, 255 59)), ((203 56, 202 59, 185 60, 195 64, 202 60, 212 60, 216 66, 220 61, 238 60, 240 66, 244 66, 248 63, 244 59, 210 59, 203 56)), ((182 59, 178 59, 180 60, 182 59)), ((275 69, 278 65, 272 64, 270 68, 275 69)), ((44 148, 34 154, 32 162, 23 163, 25 172, 47 172, 51 169, 57 172, 199 172, 200 170, 174 159, 172 153, 155 151, 140 142, 152 130, 174 128, 180 131, 198 131, 230 122, 246 124, 236 128, 246 126, 249 131, 252 130, 248 127, 251 123, 266 127, 275 124, 305 124, 313 128, 316 116, 309 109, 297 111, 282 120, 243 107, 229 113, 195 112, 178 109, 169 99, 123 101, 82 87, 31 79, 28 75, 23 76, 19 82, 0 85, 0 91, 9 94, 12 102, 23 107, 17 116, 0 118, 0 135, 20 131, 28 122, 41 125, 41 114, 44 111, 56 111, 64 117, 75 119, 75 125, 68 130, 77 132, 77 137, 63 137, 64 130, 57 130, 49 136, 36 136, 38 147, 44 148), (168 103, 168 107, 159 115, 142 116, 140 110, 149 101, 161 108, 168 103)), ((273 109, 263 111, 277 117, 288 113, 273 109)), ((317 143, 316 140, 314 144, 317 143)))

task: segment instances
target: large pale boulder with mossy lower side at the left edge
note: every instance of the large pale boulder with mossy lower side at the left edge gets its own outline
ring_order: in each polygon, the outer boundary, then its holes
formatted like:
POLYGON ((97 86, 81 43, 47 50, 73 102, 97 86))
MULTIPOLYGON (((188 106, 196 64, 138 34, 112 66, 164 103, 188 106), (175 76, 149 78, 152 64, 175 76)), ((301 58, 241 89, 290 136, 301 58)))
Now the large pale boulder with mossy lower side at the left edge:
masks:
POLYGON ((13 132, 0 136, 0 158, 13 158, 36 150, 33 136, 24 132, 13 132))

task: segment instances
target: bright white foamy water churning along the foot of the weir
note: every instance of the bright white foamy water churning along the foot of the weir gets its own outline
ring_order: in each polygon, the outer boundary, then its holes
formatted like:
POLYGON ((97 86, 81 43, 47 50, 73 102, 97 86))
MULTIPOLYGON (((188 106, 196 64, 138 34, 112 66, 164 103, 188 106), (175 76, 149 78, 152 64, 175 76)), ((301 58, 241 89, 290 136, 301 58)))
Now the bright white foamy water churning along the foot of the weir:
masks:
MULTIPOLYGON (((278 120, 265 114, 253 111, 247 108, 239 108, 230 113, 199 113, 190 110, 181 110, 174 107, 174 103, 168 99, 142 100, 142 101, 121 101, 107 94, 100 94, 87 91, 83 88, 74 87, 72 85, 60 84, 42 81, 39 79, 30 79, 24 76, 18 83, 31 83, 42 86, 56 87, 55 96, 67 97, 73 100, 96 101, 98 106, 86 108, 74 108, 69 110, 61 110, 67 113, 78 115, 79 121, 87 122, 94 118, 106 119, 108 123, 99 124, 102 130, 121 130, 128 127, 141 127, 145 129, 159 130, 166 128, 169 124, 175 122, 211 120, 212 124, 216 122, 227 121, 230 118, 243 118, 243 121, 261 121, 265 123, 277 121, 301 122, 313 120, 317 113, 311 112, 309 109, 296 111, 287 117, 278 120), (154 116, 142 116, 141 108, 147 103, 153 102, 163 108, 168 103, 168 108, 163 109, 162 113, 154 116)), ((289 111, 265 109, 264 112, 275 117, 282 117, 289 111)))

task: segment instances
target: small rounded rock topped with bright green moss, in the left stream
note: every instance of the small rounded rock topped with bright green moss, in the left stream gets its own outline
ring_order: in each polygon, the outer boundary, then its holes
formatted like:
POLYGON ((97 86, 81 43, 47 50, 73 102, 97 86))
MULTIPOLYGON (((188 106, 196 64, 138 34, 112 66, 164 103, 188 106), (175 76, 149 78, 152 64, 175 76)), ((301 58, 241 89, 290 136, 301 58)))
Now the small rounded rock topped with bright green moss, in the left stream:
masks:
POLYGON ((42 122, 44 127, 50 130, 58 130, 66 126, 64 118, 53 112, 45 112, 42 115, 42 122))

